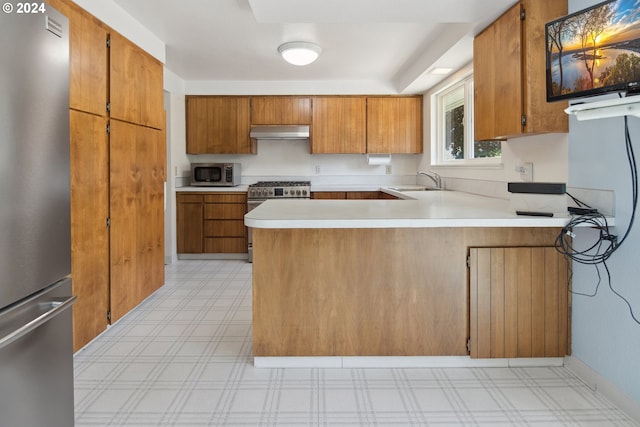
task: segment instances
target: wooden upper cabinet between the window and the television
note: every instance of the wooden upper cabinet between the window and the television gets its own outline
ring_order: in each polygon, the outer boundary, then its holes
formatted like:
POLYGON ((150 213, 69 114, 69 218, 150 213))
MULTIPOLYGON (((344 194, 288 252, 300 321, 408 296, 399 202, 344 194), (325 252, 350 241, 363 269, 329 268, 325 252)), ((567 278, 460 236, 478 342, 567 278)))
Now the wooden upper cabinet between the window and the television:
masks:
POLYGON ((547 103, 544 24, 566 0, 521 0, 474 40, 475 140, 568 132, 566 102, 547 103))

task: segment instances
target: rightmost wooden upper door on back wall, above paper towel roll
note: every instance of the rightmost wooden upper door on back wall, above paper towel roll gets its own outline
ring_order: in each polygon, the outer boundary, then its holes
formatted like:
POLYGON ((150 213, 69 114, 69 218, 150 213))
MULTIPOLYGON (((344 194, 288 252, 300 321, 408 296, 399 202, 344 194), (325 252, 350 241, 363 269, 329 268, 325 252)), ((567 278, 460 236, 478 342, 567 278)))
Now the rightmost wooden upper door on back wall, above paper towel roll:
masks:
POLYGON ((422 153, 422 97, 367 98, 368 153, 422 153))

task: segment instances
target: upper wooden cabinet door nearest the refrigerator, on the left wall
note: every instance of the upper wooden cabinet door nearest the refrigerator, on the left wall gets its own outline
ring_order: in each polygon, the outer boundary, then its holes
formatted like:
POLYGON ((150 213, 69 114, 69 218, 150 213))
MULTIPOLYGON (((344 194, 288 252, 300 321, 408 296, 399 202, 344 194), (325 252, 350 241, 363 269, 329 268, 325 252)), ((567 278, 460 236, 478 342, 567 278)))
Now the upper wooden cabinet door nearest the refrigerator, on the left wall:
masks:
POLYGON ((70 1, 49 3, 69 18, 70 108, 107 115, 108 28, 70 1))

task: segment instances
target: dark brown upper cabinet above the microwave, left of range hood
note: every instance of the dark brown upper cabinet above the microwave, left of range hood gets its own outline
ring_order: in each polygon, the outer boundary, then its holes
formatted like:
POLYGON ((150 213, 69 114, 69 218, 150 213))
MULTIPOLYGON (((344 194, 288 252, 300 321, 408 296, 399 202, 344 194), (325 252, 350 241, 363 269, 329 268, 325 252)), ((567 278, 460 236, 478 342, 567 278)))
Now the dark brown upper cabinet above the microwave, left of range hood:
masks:
POLYGON ((187 154, 255 154, 250 98, 186 96, 187 154))

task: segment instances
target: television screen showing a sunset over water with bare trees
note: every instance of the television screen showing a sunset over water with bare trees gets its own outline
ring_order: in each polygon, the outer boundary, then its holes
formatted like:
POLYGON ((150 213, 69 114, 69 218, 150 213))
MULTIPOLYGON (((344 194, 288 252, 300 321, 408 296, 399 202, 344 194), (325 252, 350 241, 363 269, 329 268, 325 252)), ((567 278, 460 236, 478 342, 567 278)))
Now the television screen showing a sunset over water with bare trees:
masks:
POLYGON ((545 25, 547 101, 640 89, 640 7, 610 0, 545 25))

